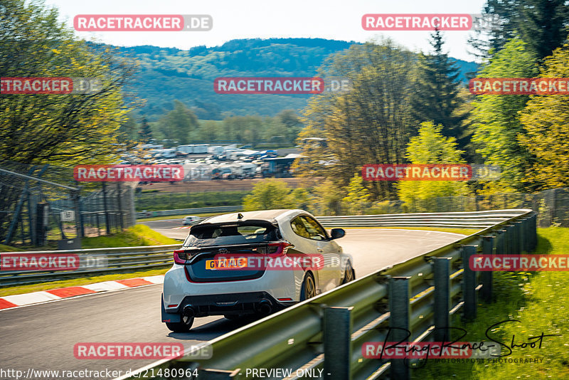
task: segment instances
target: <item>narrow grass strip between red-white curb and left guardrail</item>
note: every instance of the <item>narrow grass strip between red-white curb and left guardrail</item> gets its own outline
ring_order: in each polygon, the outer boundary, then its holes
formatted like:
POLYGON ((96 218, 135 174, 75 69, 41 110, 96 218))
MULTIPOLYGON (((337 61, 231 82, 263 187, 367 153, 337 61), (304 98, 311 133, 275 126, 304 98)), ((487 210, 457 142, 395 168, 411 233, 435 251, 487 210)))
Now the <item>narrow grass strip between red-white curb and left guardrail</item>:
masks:
POLYGON ((164 273, 166 273, 167 270, 168 268, 142 270, 139 272, 131 272, 131 273, 117 273, 113 275, 74 278, 72 280, 53 281, 50 283, 0 287, 0 297, 4 297, 6 295, 29 293, 29 292, 40 292, 43 290, 50 290, 50 289, 59 289, 60 287, 81 286, 92 283, 102 283, 103 281, 127 280, 129 278, 164 275, 164 273))

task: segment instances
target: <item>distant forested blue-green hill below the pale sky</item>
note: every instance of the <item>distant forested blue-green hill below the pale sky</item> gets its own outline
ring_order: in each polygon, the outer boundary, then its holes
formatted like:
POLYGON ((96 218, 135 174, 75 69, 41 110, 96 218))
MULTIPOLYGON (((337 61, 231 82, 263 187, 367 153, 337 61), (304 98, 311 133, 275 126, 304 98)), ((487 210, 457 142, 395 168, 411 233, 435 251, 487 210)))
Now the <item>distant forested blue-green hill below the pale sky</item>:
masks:
MULTIPOLYGON (((140 70, 126 90, 147 100, 140 110, 149 121, 173 107, 174 100, 193 108, 200 119, 222 120, 227 115, 274 116, 281 110, 300 110, 309 95, 221 95, 213 80, 221 76, 313 76, 324 59, 354 42, 323 38, 240 39, 222 46, 196 46, 189 51, 157 46, 117 47, 135 58, 140 70)), ((461 80, 477 64, 457 60, 461 80)))

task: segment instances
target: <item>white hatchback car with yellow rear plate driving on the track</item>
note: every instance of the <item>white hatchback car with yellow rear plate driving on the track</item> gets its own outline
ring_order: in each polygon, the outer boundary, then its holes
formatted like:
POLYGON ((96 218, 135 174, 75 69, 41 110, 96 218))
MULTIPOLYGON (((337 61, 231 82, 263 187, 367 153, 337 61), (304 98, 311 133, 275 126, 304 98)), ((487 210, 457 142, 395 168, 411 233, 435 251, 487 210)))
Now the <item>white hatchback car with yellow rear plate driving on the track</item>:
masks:
POLYGON ((188 332, 195 317, 268 315, 353 280, 351 255, 303 210, 230 213, 191 227, 164 278, 162 322, 188 332))

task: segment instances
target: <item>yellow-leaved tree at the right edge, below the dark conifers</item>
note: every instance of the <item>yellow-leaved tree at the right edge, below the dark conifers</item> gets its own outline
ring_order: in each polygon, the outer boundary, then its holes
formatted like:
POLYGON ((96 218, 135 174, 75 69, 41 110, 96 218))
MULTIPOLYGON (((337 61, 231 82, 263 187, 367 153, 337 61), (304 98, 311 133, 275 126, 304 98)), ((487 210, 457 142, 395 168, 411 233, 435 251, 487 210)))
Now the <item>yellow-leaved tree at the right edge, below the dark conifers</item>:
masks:
MULTIPOLYGON (((569 78, 569 45, 546 58, 542 78, 569 78)), ((532 95, 521 112, 522 147, 536 156, 525 181, 537 190, 569 186, 569 95, 532 95)))

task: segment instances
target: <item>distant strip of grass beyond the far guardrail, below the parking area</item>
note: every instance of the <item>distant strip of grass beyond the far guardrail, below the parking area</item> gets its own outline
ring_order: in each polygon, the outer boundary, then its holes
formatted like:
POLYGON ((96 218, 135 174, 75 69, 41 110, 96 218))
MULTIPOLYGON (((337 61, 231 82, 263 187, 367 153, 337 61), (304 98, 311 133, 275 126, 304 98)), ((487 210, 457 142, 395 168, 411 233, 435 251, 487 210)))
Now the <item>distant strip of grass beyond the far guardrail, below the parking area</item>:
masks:
POLYGON ((250 191, 208 191, 195 193, 152 193, 134 196, 137 211, 197 209, 242 204, 250 191))

